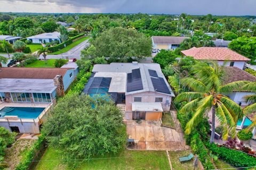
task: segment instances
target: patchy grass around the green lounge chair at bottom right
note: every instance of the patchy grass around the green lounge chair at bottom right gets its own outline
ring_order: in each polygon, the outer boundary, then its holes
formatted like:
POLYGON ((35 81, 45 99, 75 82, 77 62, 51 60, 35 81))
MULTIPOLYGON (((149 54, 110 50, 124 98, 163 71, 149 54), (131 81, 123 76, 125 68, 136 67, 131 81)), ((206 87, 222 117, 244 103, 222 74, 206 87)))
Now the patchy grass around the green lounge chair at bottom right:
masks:
MULTIPOLYGON (((190 150, 185 150, 181 152, 169 151, 173 170, 178 170, 178 169, 193 170, 194 169, 193 160, 189 160, 185 163, 180 163, 180 160, 179 160, 179 157, 188 156, 190 153, 191 153, 190 150)), ((200 169, 199 166, 197 166, 196 169, 200 169)))

